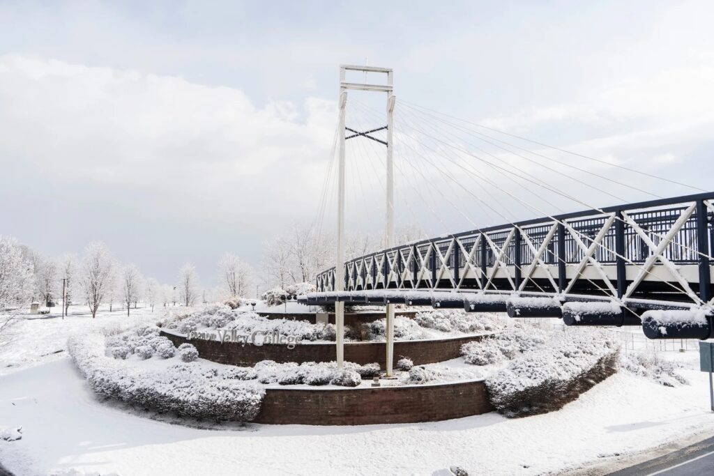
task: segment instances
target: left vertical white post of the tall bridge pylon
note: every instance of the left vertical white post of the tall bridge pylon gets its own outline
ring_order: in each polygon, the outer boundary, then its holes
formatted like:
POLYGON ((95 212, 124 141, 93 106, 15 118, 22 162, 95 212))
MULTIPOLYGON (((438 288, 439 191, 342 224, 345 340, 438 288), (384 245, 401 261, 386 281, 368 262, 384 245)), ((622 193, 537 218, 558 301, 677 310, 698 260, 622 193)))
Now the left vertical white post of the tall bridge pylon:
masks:
MULTIPOLYGON (((339 166, 338 166, 338 187, 337 187, 337 260, 335 263, 335 287, 336 292, 344 290, 344 268, 345 268, 345 108, 347 106, 347 91, 342 86, 345 81, 345 69, 340 68, 340 123, 338 125, 339 143, 339 166)), ((345 303, 335 303, 335 328, 337 333, 337 367, 342 368, 345 352, 345 303)))

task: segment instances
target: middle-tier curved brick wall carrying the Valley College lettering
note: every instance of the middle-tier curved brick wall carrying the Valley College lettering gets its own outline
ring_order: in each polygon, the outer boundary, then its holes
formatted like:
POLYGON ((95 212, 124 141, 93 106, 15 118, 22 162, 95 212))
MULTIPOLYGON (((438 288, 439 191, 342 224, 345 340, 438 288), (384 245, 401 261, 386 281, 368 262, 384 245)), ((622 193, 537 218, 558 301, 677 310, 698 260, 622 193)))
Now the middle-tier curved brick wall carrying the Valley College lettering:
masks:
MULTIPOLYGON (((334 343, 302 343, 293 349, 286 345, 250 345, 240 343, 220 343, 216 340, 188 340, 183 335, 161 330, 178 347, 183 343, 196 346, 198 355, 213 362, 252 367, 261 360, 284 362, 331 362, 336 360, 334 343)), ((461 345, 472 340, 481 340, 490 334, 469 335, 466 337, 439 340, 397 340, 394 343, 395 360, 401 357, 411 358, 414 365, 442 362, 461 356, 461 345)), ((358 364, 379 363, 386 366, 386 344, 383 342, 345 343, 345 360, 358 364)))

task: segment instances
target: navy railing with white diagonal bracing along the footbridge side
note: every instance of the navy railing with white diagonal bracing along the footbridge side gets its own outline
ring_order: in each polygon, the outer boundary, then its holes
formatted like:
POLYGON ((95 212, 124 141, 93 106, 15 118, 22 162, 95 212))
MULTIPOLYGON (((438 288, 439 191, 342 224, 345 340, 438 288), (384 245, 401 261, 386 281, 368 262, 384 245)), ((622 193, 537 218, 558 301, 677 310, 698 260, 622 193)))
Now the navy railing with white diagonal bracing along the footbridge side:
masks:
MULTIPOLYGON (((714 193, 701 193, 421 240, 351 259, 342 278, 345 290, 577 291, 618 298, 671 298, 676 291, 708 301, 712 201, 714 193)), ((333 290, 335 277, 334 268, 320 273, 318 291, 333 290)))

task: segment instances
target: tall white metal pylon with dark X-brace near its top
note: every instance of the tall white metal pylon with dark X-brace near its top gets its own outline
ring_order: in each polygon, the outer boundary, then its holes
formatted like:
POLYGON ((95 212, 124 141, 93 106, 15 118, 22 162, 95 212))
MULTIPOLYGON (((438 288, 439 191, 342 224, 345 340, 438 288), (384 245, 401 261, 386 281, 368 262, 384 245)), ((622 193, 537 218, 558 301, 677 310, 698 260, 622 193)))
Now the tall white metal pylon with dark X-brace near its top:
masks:
MULTIPOLYGON (((366 80, 365 80, 366 81, 366 80)), ((338 148, 339 166, 338 166, 338 198, 337 198, 337 259, 335 265, 335 285, 333 289, 336 292, 344 290, 345 276, 345 141, 348 138, 365 137, 372 140, 384 143, 368 133, 376 132, 382 129, 387 131, 387 201, 386 201, 386 232, 385 245, 386 248, 391 248, 394 245, 394 162, 393 162, 393 111, 395 98, 393 95, 393 71, 389 68, 378 68, 376 66, 340 66, 340 118, 338 129, 340 131, 340 143, 338 148), (381 73, 387 75, 386 84, 369 84, 369 83, 350 83, 346 81, 346 71, 360 71, 365 73, 381 73), (346 128, 345 115, 347 107, 347 91, 376 91, 387 94, 387 126, 376 129, 375 131, 354 131, 346 128), (353 134, 345 137, 345 131, 351 131, 353 134)), ((344 319, 345 305, 339 301, 335 303, 335 325, 337 333, 337 365, 339 368, 343 366, 344 360, 344 319)), ((386 321, 387 321, 387 355, 386 355, 386 373, 388 377, 392 375, 393 360, 394 360, 394 305, 386 305, 386 321)))

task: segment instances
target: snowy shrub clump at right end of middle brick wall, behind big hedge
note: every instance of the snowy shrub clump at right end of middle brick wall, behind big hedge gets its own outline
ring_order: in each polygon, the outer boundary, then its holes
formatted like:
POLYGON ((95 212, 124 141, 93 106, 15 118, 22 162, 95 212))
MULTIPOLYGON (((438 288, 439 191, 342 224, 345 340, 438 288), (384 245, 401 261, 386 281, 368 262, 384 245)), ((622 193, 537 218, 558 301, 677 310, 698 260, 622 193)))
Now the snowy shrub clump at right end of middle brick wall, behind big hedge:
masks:
POLYGON ((493 337, 466 343, 461 346, 461 354, 466 363, 473 365, 493 365, 545 344, 542 330, 523 323, 503 328, 493 337))

